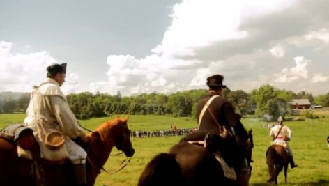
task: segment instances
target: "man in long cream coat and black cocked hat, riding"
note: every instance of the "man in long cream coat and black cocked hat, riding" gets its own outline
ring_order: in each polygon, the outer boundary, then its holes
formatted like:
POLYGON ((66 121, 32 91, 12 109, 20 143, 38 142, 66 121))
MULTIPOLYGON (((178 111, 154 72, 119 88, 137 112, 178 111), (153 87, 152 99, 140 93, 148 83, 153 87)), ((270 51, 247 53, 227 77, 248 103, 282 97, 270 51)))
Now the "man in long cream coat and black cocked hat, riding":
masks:
POLYGON ((31 127, 40 145, 40 156, 46 160, 71 160, 78 185, 86 184, 86 152, 72 139, 87 137, 78 125, 77 118, 68 107, 68 102, 60 86, 65 82, 66 63, 47 67, 47 79, 34 86, 29 107, 26 110, 25 125, 31 127), (45 136, 58 131, 66 136, 65 144, 56 150, 45 145, 45 136))

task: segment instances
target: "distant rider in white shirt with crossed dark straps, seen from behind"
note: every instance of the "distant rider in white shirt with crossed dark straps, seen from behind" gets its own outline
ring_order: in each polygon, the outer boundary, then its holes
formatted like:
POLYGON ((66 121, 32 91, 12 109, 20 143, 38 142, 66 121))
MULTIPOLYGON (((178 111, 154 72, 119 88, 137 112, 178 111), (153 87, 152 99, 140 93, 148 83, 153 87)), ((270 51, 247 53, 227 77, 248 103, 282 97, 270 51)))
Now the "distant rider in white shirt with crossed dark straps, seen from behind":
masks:
POLYGON ((289 127, 287 127, 286 125, 283 125, 282 116, 277 118, 277 125, 272 127, 270 130, 270 137, 273 137, 272 144, 284 146, 286 148, 286 150, 288 150, 288 153, 291 157, 291 162, 290 162, 291 169, 298 166, 293 161, 293 152, 288 144, 288 141, 290 141, 290 139, 291 139, 292 133, 293 132, 290 130, 289 127))

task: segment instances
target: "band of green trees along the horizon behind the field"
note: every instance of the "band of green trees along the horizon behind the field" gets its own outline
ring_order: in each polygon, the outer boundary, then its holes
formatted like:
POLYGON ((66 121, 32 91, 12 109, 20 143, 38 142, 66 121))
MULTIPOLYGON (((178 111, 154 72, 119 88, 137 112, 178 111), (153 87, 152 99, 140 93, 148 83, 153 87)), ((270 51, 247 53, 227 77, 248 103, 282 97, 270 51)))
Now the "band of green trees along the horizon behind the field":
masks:
MULTIPOLYGON (((109 116, 112 114, 170 115, 175 117, 196 116, 197 103, 206 97, 205 89, 182 91, 171 94, 143 93, 121 96, 106 93, 71 93, 67 95, 68 104, 79 119, 109 116)), ((311 93, 280 90, 270 85, 260 86, 250 93, 224 89, 224 98, 232 102, 241 115, 256 114, 259 118, 289 114, 292 99, 308 99, 312 104, 329 107, 329 92, 314 97, 311 93)), ((30 93, 1 92, 0 113, 25 112, 30 93)))

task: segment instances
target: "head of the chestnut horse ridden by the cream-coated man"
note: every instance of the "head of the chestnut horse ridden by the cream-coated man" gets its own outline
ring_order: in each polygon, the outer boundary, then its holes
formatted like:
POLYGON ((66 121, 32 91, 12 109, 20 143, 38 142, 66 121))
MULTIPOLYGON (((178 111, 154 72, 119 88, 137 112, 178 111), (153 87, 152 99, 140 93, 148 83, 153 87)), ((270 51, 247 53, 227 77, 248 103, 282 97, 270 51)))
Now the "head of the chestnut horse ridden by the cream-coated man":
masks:
POLYGON ((114 146, 116 146, 118 150, 122 150, 127 157, 132 157, 132 155, 135 153, 135 150, 132 148, 132 143, 130 141, 130 130, 127 124, 128 118, 129 117, 116 118, 116 122, 114 124, 114 130, 116 134, 114 146))

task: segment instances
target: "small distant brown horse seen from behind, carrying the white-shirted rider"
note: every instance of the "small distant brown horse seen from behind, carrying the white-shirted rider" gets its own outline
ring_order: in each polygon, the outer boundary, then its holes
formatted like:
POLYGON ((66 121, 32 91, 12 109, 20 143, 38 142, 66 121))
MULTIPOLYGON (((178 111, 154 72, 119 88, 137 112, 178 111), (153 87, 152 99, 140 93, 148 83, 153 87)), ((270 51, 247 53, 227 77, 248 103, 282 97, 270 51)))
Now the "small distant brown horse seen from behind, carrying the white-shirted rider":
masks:
POLYGON ((270 178, 268 183, 277 185, 277 176, 284 168, 284 180, 286 182, 288 165, 291 160, 290 155, 286 152, 284 146, 272 145, 266 150, 266 164, 270 178))

